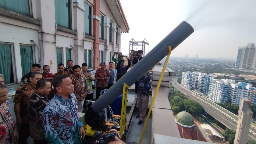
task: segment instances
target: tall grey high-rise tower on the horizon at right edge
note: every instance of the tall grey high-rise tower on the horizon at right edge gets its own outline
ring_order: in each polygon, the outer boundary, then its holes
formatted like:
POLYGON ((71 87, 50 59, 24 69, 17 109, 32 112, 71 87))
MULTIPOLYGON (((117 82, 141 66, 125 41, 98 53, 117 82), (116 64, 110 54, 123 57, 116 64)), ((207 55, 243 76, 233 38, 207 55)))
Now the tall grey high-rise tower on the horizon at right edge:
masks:
POLYGON ((238 47, 235 67, 256 69, 256 50, 254 43, 249 43, 246 47, 238 47))

